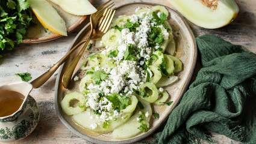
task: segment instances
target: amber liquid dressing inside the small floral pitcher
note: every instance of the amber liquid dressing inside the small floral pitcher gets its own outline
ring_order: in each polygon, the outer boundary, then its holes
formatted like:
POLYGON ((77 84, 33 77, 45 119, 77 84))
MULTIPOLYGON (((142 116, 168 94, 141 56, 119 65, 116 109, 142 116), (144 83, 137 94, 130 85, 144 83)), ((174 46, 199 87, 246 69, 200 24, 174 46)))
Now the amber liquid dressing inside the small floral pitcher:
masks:
POLYGON ((16 112, 24 98, 19 92, 0 90, 0 117, 16 112))

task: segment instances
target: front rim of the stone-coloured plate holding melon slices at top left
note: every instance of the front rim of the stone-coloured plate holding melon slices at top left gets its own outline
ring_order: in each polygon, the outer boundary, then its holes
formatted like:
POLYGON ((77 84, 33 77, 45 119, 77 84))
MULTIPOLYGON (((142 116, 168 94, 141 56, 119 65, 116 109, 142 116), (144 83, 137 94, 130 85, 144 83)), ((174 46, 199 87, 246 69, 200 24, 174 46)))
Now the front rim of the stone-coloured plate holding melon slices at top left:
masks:
MULTIPOLYGON (((78 19, 75 23, 73 23, 73 25, 69 26, 69 28, 67 28, 67 34, 69 34, 70 32, 73 32, 76 28, 78 28, 78 26, 80 26, 86 20, 86 18, 87 18, 87 16, 81 16, 81 18, 78 19)), ((27 38, 27 39, 23 40, 22 43, 27 43, 27 44, 43 43, 46 41, 55 40, 60 37, 63 37, 63 35, 52 34, 52 35, 49 35, 49 37, 27 38)))

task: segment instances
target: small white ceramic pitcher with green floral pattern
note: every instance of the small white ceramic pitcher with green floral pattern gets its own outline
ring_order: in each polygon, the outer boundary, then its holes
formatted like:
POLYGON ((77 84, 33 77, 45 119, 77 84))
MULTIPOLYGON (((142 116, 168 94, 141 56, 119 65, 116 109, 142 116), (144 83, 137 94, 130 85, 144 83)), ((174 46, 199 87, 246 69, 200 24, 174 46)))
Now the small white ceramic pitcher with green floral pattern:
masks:
POLYGON ((27 82, 0 86, 0 91, 15 91, 25 97, 16 112, 9 116, 0 117, 0 142, 23 139, 36 128, 39 122, 39 107, 34 98, 29 95, 32 88, 33 86, 27 82))

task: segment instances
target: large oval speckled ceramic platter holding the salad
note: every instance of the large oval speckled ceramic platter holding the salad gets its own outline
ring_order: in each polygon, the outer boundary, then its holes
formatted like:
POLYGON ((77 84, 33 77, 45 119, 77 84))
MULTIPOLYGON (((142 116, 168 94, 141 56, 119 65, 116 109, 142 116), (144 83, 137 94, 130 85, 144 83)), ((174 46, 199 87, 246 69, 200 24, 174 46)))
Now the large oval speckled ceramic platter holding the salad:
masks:
MULTIPOLYGON (((120 7, 116 8, 116 17, 126 14, 134 14, 134 11, 137 7, 152 7, 153 5, 159 5, 159 4, 149 4, 149 3, 133 3, 133 4, 125 4, 120 7)), ((166 120, 166 118, 169 116, 170 112, 172 112, 173 108, 178 104, 181 97, 184 94, 184 91, 186 90, 187 86, 189 85, 190 79, 193 74, 193 70, 196 64, 196 44, 195 44, 195 37, 189 28, 189 25, 184 21, 184 19, 176 13, 171 8, 166 7, 167 10, 170 12, 169 17, 169 23, 173 28, 174 37, 175 37, 175 43, 177 47, 176 51, 176 57, 180 58, 181 61, 184 64, 184 70, 178 74, 178 77, 180 77, 180 80, 178 82, 173 83, 173 85, 167 86, 166 90, 170 94, 170 100, 173 101, 173 103, 170 106, 152 106, 152 110, 154 112, 157 112, 160 114, 160 118, 155 120, 151 119, 150 123, 150 129, 146 133, 141 133, 135 137, 131 137, 130 139, 116 139, 115 137, 111 136, 111 133, 107 134, 98 134, 90 130, 86 130, 79 125, 76 125, 75 122, 72 121, 72 119, 64 114, 64 112, 61 110, 60 102, 64 97, 64 94, 70 92, 70 91, 76 91, 78 89, 78 82, 72 82, 70 83, 70 89, 64 89, 61 83, 61 77, 63 76, 64 71, 69 65, 69 61, 66 62, 66 64, 63 65, 63 67, 60 68, 60 71, 58 73, 56 85, 55 85, 55 109, 57 110, 58 117, 60 118, 61 122, 63 122, 64 125, 66 125, 67 128, 69 128, 70 131, 77 134, 78 136, 82 137, 83 139, 89 140, 90 142, 94 143, 134 143, 139 140, 144 139, 145 137, 148 137, 150 134, 152 134, 155 130, 157 130, 158 127, 160 127, 161 124, 166 120)), ((77 35, 76 39, 73 41, 73 44, 70 46, 74 46, 76 43, 81 41, 85 35, 87 34, 87 31, 89 31, 89 25, 87 25, 82 31, 77 35)), ((88 55, 88 53, 85 53, 85 55, 88 55)), ((70 58, 72 59, 72 58, 70 58)), ((81 59, 83 61, 83 59, 81 59)), ((78 64, 77 73, 76 75, 78 77, 83 77, 84 74, 82 71, 79 70, 79 67, 81 65, 78 64)), ((84 119, 85 121, 92 121, 91 119, 84 119)), ((128 132, 129 133, 129 132, 128 132)))

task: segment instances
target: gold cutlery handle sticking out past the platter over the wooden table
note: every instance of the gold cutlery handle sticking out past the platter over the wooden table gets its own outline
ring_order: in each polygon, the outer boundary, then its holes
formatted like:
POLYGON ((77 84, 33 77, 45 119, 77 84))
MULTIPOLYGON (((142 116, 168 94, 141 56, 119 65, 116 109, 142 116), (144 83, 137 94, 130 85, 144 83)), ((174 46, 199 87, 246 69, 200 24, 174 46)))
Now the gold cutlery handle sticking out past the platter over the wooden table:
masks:
POLYGON ((55 73, 55 71, 58 69, 58 67, 60 67, 61 64, 63 64, 63 62, 65 62, 67 60, 67 58, 69 58, 69 56, 75 52, 75 50, 80 47, 86 40, 81 41, 80 43, 76 44, 75 47, 73 47, 71 50, 69 50, 69 52, 66 53, 66 55, 64 55, 60 61, 58 61, 56 64, 54 64, 48 71, 46 71, 45 73, 43 73, 41 76, 37 77, 37 79, 34 79, 31 82, 31 85, 33 86, 33 88, 39 88, 40 86, 43 85, 43 83, 45 83, 51 76, 52 74, 55 73))

